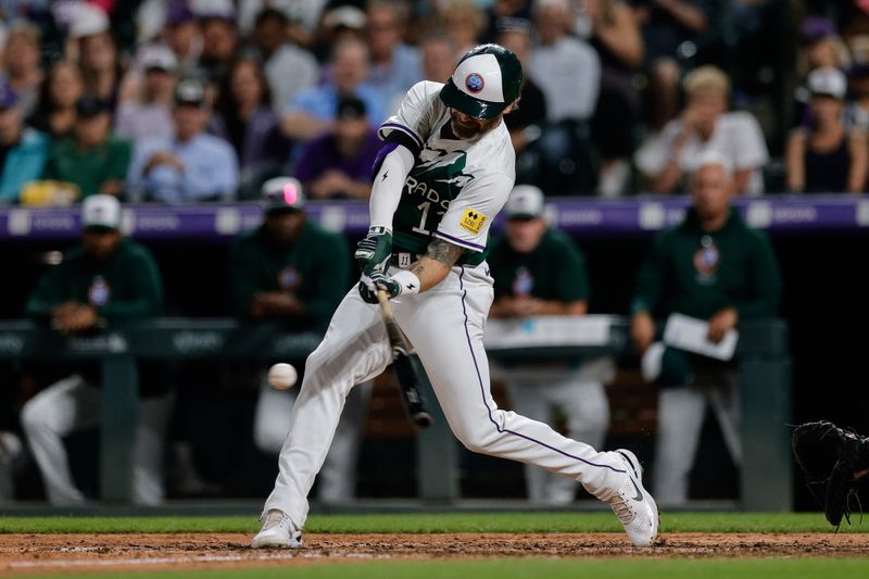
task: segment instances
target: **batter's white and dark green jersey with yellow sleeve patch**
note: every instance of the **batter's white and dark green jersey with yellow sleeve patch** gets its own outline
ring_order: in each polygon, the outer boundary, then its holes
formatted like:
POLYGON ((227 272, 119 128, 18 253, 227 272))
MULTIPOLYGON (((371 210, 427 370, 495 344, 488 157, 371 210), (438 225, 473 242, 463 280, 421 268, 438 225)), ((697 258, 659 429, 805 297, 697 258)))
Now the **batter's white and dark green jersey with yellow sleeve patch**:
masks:
POLYGON ((459 264, 477 265, 513 188, 515 153, 503 123, 474 140, 456 138, 450 109, 438 98, 442 86, 415 85, 378 131, 383 140, 402 133, 419 147, 392 219, 393 246, 423 254, 438 237, 468 250, 459 264))

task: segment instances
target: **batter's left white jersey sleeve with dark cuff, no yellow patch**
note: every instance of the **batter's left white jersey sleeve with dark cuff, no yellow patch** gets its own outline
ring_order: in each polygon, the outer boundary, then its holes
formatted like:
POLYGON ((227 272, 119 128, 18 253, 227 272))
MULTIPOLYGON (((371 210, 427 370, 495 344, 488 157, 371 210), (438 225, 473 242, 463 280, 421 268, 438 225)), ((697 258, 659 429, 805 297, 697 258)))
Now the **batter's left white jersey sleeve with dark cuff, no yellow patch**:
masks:
POLYGON ((414 156, 419 154, 431 133, 433 101, 438 98, 440 86, 424 80, 411 87, 399 111, 380 125, 377 131, 380 139, 405 146, 414 156))

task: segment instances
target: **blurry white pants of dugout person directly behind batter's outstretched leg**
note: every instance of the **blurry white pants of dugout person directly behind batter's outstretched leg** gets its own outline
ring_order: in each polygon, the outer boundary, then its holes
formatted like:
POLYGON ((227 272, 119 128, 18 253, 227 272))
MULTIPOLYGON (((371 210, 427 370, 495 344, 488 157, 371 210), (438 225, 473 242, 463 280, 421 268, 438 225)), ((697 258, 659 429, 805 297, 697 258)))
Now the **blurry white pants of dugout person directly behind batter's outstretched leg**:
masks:
MULTIPOLYGON (((567 436, 595 449, 603 445, 609 426, 604 382, 614 376, 609 357, 589 360, 579 368, 520 365, 503 369, 513 410, 546 424, 557 410, 567 419, 567 436)), ((537 466, 525 467, 525 484, 532 503, 565 505, 576 498, 576 481, 537 466)))

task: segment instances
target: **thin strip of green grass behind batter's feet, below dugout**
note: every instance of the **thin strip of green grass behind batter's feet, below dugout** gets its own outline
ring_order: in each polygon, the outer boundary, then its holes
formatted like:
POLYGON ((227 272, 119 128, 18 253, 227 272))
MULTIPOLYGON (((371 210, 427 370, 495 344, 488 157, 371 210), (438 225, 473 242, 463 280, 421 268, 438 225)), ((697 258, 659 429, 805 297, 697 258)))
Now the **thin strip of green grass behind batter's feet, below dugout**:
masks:
MULTIPOLYGON (((0 533, 242 532, 259 528, 250 517, 0 517, 0 533)), ((620 532, 609 512, 593 513, 403 513, 317 515, 307 532, 620 532)), ((819 513, 664 513, 662 531, 832 532, 819 513)), ((840 532, 869 532, 869 520, 840 532)))

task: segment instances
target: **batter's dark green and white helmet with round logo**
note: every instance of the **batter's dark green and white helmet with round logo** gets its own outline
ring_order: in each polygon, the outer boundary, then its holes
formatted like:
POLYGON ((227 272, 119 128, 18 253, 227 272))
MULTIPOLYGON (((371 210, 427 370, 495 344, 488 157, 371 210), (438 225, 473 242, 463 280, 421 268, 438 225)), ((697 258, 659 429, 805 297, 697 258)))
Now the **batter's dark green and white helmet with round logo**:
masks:
POLYGON ((500 45, 470 49, 441 89, 448 106, 475 118, 493 118, 519 97, 522 65, 500 45))

